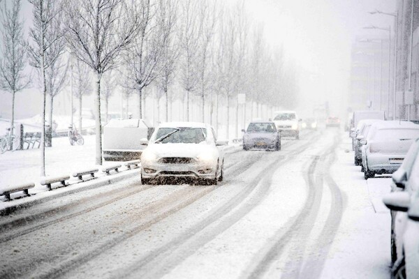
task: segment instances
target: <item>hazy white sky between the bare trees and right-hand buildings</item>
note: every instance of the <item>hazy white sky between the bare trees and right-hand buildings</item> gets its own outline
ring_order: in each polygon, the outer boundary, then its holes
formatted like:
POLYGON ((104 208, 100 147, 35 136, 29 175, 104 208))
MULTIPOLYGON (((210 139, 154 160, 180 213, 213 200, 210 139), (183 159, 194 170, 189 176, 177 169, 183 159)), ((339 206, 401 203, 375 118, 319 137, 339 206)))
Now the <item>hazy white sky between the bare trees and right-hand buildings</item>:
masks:
POLYGON ((265 24, 272 45, 284 45, 286 54, 302 67, 300 110, 330 102, 331 113, 346 111, 349 91, 351 42, 355 36, 382 36, 362 29, 387 27, 392 17, 369 11, 395 10, 395 0, 247 0, 249 13, 265 24))

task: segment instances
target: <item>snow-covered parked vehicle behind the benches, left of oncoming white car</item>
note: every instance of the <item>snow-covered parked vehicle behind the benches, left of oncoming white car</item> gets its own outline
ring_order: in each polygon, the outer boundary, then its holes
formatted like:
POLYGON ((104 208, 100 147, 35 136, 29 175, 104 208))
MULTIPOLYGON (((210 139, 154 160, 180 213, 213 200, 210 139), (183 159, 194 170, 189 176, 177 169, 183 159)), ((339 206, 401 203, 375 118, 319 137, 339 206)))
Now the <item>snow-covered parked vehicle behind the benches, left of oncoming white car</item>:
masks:
POLYGON ((151 128, 143 119, 110 119, 103 127, 103 158, 105 160, 139 159, 145 146, 142 138, 149 138, 151 128))

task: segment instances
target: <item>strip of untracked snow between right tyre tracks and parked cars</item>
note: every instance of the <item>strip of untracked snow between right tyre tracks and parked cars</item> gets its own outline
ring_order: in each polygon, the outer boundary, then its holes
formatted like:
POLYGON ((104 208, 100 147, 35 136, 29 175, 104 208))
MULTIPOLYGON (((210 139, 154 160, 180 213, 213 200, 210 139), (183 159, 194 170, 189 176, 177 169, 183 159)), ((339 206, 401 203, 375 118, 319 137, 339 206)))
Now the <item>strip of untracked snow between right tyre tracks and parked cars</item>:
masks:
POLYGON ((342 138, 332 178, 345 194, 345 207, 320 278, 390 278, 390 211, 382 202, 390 178, 365 181, 353 164, 351 141, 342 138))

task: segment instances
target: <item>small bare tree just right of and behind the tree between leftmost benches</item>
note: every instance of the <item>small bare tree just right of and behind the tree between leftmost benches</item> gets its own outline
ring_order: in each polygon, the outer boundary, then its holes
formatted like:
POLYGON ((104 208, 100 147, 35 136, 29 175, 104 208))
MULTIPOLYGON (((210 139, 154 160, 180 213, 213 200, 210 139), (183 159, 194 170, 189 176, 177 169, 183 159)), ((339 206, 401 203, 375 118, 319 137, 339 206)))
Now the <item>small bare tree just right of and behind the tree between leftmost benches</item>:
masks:
POLYGON ((45 82, 47 94, 50 97, 50 129, 52 129, 52 112, 54 110, 54 98, 57 96, 66 84, 68 63, 65 63, 61 56, 55 59, 45 70, 45 82))

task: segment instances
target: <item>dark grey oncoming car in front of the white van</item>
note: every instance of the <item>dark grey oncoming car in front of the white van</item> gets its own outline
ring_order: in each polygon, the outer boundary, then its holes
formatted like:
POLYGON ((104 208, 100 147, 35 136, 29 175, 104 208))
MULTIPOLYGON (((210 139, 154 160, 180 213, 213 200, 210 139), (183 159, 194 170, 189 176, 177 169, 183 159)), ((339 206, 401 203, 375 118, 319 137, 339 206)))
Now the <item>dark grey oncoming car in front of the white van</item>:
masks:
POLYGON ((252 148, 281 150, 281 135, 272 121, 251 122, 247 130, 242 132, 244 132, 244 150, 252 148))

